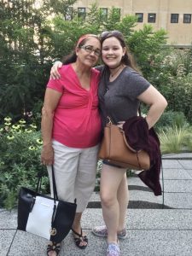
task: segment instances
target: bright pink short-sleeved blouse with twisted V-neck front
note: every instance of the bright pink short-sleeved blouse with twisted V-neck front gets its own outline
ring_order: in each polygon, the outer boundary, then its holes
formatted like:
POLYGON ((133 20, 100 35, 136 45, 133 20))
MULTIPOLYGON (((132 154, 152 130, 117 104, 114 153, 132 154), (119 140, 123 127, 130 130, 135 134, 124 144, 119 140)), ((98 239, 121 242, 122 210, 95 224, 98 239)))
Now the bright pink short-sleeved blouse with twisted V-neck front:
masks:
POLYGON ((55 108, 52 137, 72 148, 89 148, 100 142, 102 124, 98 110, 100 73, 91 69, 90 90, 85 90, 71 64, 63 65, 60 79, 47 87, 62 93, 55 108))

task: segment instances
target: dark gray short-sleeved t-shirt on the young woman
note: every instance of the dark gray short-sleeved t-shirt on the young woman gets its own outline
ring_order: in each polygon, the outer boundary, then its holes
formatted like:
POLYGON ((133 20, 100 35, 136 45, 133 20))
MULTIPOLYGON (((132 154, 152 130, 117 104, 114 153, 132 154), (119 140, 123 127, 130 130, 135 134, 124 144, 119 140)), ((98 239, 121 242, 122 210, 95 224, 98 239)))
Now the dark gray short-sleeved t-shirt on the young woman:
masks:
POLYGON ((147 90, 150 83, 131 67, 125 67, 113 82, 109 82, 109 74, 103 67, 98 69, 102 72, 98 91, 102 125, 106 125, 108 116, 114 124, 136 116, 140 103, 137 96, 147 90))

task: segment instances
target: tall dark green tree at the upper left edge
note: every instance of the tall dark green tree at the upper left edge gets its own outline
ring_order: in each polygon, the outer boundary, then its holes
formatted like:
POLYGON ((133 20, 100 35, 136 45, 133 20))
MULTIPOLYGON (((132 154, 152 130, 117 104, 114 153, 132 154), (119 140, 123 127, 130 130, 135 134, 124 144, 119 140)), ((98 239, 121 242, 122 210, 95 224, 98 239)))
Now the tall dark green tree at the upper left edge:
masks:
POLYGON ((75 0, 0 3, 0 115, 17 118, 43 98, 51 65, 51 15, 65 15, 75 0))

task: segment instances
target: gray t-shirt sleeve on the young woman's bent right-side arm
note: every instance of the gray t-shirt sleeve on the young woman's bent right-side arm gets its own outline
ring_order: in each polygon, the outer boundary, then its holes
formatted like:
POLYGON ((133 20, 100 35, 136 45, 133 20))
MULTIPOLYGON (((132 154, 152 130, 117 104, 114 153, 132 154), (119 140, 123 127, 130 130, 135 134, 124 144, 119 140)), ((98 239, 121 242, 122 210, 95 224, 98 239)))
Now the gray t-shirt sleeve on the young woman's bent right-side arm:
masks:
POLYGON ((136 99, 137 96, 140 96, 150 86, 148 80, 144 79, 142 75, 134 70, 127 73, 123 84, 125 94, 129 96, 131 100, 136 99))

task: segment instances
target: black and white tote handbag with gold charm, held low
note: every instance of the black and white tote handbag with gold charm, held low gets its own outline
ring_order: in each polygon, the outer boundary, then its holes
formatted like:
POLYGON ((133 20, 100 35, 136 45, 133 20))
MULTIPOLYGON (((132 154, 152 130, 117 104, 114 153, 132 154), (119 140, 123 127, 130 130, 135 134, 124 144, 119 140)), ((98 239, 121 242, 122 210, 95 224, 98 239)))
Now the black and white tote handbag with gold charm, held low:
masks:
POLYGON ((18 201, 18 230, 23 230, 49 241, 61 242, 72 228, 76 212, 74 203, 58 200, 52 166, 54 198, 41 195, 41 178, 36 191, 20 188, 18 201))

